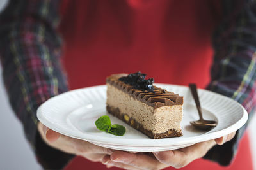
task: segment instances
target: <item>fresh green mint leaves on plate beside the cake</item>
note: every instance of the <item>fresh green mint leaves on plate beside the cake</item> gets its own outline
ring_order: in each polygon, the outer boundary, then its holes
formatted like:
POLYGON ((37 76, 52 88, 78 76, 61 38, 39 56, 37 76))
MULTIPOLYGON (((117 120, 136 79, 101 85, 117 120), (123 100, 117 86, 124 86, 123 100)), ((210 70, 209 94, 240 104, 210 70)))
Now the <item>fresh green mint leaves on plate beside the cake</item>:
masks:
POLYGON ((95 121, 95 125, 100 131, 114 134, 116 136, 123 136, 125 133, 125 127, 118 124, 111 125, 111 120, 107 115, 98 118, 95 121))

